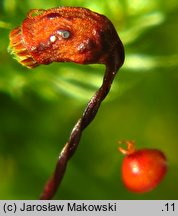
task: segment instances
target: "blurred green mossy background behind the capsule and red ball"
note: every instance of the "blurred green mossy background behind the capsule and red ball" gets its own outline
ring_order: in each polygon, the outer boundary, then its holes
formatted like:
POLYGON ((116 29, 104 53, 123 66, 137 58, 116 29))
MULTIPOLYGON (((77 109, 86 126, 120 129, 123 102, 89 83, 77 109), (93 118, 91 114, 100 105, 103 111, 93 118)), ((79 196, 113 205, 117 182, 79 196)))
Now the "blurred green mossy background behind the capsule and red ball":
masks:
POLYGON ((53 63, 26 69, 7 53, 10 30, 34 8, 82 6, 105 14, 126 60, 85 130, 55 199, 178 199, 178 1, 0 0, 0 199, 38 199, 103 65, 53 63), (87 77, 87 79, 86 79, 87 77), (142 195, 121 181, 119 140, 158 148, 169 171, 142 195))

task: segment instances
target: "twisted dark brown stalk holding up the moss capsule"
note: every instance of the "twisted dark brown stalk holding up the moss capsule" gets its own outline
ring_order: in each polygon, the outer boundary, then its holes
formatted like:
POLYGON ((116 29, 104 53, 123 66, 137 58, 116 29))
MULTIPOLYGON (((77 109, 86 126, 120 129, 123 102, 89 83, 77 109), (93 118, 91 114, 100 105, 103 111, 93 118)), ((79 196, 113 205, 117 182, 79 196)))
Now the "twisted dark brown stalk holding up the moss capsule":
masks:
POLYGON ((113 51, 111 56, 112 58, 109 58, 109 61, 106 64, 106 71, 103 83, 99 90, 89 101, 86 109, 83 112, 82 117, 73 127, 69 140, 65 144, 59 155, 55 171, 45 185, 44 191, 40 199, 51 199, 55 195, 66 171, 67 163, 77 150, 83 130, 93 121, 101 105, 101 102, 109 93, 115 75, 117 74, 118 69, 122 66, 122 63, 124 61, 123 48, 121 48, 121 46, 119 46, 119 49, 118 47, 116 47, 116 50, 113 51))

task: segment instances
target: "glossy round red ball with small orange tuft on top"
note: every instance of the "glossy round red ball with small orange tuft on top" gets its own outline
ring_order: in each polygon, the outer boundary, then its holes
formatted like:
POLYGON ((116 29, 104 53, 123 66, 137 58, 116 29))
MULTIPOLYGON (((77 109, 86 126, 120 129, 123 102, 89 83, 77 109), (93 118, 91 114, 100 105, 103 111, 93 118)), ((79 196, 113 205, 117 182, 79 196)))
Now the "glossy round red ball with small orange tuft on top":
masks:
POLYGON ((167 172, 164 153, 158 149, 135 150, 133 141, 124 143, 127 144, 128 150, 119 147, 119 151, 126 154, 122 162, 124 185, 135 193, 145 193, 154 189, 167 172))

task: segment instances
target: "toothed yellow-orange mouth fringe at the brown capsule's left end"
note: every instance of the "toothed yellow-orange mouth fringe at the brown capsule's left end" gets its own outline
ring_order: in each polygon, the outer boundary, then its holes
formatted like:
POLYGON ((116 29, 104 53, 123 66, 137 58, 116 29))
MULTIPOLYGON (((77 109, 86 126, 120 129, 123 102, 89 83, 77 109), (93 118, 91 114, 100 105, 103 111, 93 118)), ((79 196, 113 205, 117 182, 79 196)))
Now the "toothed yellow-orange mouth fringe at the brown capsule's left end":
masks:
POLYGON ((30 55, 28 49, 23 43, 23 35, 20 26, 10 32, 9 39, 10 44, 8 52, 13 56, 13 58, 27 68, 34 68, 39 65, 30 55))

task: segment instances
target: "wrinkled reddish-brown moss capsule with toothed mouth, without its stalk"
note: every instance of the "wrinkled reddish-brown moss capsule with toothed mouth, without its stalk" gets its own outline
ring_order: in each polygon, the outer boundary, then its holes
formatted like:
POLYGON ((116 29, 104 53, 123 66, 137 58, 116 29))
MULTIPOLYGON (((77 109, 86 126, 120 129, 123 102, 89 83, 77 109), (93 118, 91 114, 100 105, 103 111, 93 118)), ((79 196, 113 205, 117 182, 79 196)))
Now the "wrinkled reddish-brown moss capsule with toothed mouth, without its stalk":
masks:
MULTIPOLYGON (((116 44, 123 50, 105 16, 79 7, 31 10, 9 37, 10 52, 28 68, 51 62, 107 64, 116 44)), ((124 54, 120 53, 123 63, 124 54)))

